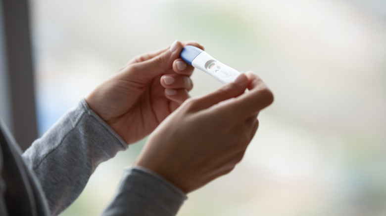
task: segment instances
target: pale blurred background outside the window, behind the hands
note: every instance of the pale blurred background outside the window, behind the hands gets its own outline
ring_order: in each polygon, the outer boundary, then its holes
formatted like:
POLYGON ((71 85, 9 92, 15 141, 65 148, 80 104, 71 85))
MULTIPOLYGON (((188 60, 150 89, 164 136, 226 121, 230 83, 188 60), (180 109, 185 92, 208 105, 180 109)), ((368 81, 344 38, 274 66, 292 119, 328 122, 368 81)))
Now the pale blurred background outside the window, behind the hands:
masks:
MULTIPOLYGON (((39 136, 134 56, 196 40, 275 94, 229 175, 179 216, 386 215, 386 1, 29 1, 39 136)), ((191 95, 221 86, 193 73, 191 95)), ((61 216, 99 215, 144 141, 101 164, 61 216)))

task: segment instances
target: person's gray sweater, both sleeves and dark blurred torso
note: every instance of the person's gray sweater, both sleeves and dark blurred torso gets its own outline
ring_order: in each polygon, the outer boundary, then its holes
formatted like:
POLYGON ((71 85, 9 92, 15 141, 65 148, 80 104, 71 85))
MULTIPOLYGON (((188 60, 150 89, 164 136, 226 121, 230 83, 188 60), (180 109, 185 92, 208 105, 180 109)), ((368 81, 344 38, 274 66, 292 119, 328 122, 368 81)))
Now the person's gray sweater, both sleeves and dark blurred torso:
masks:
MULTIPOLYGON (((84 100, 22 157, 3 126, 0 135, 1 216, 58 215, 80 195, 100 163, 127 148, 84 100)), ((167 180, 136 167, 124 171, 102 215, 173 216, 186 198, 167 180)))

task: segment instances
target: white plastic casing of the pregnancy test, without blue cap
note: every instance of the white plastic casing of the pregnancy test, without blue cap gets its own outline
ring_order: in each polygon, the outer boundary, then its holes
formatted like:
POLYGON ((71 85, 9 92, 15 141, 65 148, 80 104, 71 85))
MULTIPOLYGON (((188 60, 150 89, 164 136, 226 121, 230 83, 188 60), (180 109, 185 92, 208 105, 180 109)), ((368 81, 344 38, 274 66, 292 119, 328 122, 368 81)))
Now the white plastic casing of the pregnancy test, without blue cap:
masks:
POLYGON ((208 73, 222 83, 230 83, 241 74, 235 69, 224 65, 205 51, 198 54, 192 61, 192 66, 208 73))

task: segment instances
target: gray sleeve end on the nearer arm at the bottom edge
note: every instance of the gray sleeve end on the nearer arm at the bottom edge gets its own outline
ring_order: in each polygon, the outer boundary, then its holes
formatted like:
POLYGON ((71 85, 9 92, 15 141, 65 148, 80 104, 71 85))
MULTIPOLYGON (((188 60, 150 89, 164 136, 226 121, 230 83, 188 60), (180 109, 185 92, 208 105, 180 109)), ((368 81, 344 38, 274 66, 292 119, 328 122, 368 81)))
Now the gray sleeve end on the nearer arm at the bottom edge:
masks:
POLYGON ((148 170, 125 170, 115 197, 102 216, 175 216, 186 195, 148 170))

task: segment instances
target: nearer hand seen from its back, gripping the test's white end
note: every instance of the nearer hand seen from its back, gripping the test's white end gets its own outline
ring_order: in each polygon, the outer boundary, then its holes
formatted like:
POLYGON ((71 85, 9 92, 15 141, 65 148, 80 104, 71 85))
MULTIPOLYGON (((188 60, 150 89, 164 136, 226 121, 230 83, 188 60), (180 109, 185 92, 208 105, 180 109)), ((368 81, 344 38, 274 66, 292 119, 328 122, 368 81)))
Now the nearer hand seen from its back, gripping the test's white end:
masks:
POLYGON ((241 74, 214 93, 187 100, 151 134, 135 165, 191 192, 233 170, 257 130, 257 114, 272 102, 260 78, 241 74))

